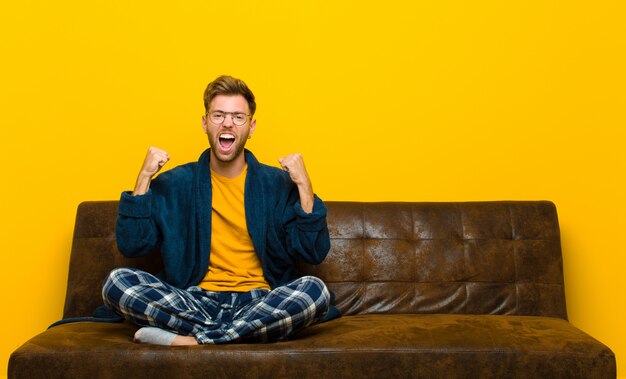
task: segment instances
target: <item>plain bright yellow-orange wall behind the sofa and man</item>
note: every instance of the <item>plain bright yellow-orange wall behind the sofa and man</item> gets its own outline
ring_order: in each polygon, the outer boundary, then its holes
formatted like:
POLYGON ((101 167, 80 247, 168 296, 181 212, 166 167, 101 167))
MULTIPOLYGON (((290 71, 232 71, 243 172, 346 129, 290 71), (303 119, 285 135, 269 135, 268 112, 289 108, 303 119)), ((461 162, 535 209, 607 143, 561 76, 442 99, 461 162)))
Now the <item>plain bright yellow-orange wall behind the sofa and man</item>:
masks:
POLYGON ((77 205, 150 145, 195 160, 223 73, 257 95, 249 148, 302 152, 325 200, 554 201, 570 321, 619 365, 626 3, 230 3, 0 5, 3 367, 62 315, 77 205))

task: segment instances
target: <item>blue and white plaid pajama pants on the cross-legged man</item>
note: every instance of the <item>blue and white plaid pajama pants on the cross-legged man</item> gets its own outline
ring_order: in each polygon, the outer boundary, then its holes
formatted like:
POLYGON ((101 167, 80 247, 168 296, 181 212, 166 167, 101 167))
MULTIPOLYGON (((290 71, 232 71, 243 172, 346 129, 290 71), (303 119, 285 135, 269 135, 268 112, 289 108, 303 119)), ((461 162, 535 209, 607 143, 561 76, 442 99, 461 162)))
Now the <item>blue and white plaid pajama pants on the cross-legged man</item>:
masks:
POLYGON ((102 289, 105 305, 139 326, 194 336, 201 344, 271 342, 320 321, 330 294, 305 276, 271 291, 212 292, 173 287, 137 269, 113 270, 102 289))

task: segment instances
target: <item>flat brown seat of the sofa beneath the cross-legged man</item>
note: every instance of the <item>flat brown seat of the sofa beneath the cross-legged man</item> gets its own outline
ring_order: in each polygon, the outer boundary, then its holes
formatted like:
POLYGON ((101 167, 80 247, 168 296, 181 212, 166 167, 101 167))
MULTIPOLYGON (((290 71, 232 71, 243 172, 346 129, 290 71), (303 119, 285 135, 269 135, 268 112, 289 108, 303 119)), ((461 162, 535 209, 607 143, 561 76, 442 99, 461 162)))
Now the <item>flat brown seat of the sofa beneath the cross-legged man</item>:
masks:
POLYGON ((602 371, 590 369, 614 360, 569 322, 537 316, 366 314, 290 341, 176 348, 133 343, 136 329, 60 325, 18 349, 10 369, 46 378, 593 378, 602 371))

